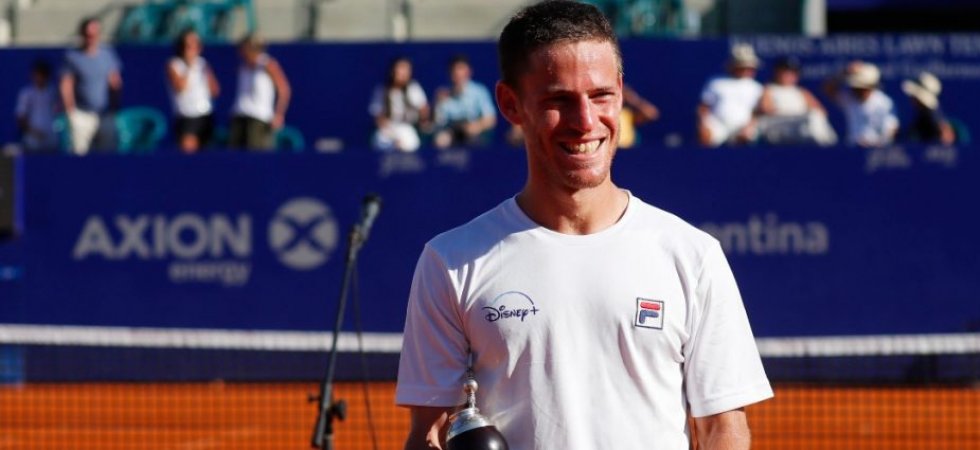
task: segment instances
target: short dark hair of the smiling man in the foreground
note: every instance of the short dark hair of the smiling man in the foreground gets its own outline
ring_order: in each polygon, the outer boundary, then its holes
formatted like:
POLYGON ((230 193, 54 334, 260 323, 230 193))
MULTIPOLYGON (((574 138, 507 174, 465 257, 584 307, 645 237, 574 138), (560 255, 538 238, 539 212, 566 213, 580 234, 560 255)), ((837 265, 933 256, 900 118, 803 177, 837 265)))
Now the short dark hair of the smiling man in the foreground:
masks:
POLYGON ((518 11, 500 33, 497 43, 500 77, 517 88, 517 79, 527 70, 531 53, 554 44, 582 41, 612 44, 619 72, 623 72, 616 33, 598 8, 569 0, 547 0, 528 6, 518 11))

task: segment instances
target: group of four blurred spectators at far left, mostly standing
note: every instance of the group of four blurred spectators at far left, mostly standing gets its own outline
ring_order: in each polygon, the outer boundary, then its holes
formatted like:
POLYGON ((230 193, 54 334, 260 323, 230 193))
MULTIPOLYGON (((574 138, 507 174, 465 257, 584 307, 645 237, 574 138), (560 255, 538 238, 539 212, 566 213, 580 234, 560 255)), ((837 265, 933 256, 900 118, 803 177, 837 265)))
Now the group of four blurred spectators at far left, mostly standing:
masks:
MULTIPOLYGON (((80 45, 65 52, 57 74, 46 61, 33 64, 31 83, 19 93, 15 111, 26 149, 66 147, 73 154, 85 155, 120 146, 123 130, 116 119, 123 77, 119 58, 102 43, 101 33, 99 20, 84 19, 78 27, 80 45), (62 133, 59 128, 64 129, 62 133)), ((177 37, 173 56, 166 63, 171 129, 185 153, 196 153, 219 138, 213 100, 221 86, 202 52, 200 36, 188 29, 177 37)), ((220 139, 228 148, 270 150, 275 145, 273 137, 285 125, 289 80, 258 35, 241 39, 238 54, 231 119, 220 128, 220 139)))

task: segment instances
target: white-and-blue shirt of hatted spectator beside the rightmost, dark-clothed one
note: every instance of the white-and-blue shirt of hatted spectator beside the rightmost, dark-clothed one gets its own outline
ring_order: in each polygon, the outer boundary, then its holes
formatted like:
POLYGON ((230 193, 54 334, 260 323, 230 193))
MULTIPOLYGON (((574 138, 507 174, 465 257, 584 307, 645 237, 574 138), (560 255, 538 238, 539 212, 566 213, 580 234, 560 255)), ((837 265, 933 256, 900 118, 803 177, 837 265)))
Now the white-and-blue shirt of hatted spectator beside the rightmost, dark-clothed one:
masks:
POLYGON ((847 143, 878 146, 891 143, 898 129, 892 99, 884 92, 875 89, 864 103, 858 101, 850 91, 842 90, 838 101, 847 119, 847 143))

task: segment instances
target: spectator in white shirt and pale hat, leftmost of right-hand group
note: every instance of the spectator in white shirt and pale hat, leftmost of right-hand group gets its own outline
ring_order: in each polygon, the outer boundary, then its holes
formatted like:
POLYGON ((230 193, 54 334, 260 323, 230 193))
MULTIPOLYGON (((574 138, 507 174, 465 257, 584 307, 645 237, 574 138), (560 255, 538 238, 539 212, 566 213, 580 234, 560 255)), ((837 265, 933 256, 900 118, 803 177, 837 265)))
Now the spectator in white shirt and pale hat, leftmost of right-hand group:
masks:
POLYGON ((698 140, 701 145, 745 144, 755 140, 754 111, 762 97, 755 80, 759 58, 750 45, 732 47, 728 75, 708 81, 698 106, 698 140))

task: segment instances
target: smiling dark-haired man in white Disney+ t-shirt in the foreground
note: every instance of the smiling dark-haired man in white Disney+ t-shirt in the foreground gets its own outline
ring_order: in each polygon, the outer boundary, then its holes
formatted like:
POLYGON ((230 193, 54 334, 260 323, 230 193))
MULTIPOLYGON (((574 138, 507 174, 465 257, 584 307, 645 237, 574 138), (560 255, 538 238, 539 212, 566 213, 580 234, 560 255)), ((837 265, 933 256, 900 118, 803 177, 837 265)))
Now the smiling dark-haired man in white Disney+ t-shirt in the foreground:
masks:
POLYGON ((499 42, 497 103, 525 131, 515 197, 422 252, 396 400, 405 448, 445 448, 468 372, 511 450, 749 446, 772 396, 718 242, 610 178, 622 58, 592 6, 546 1, 499 42))

